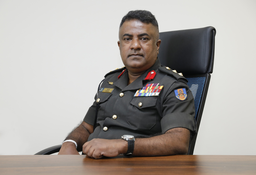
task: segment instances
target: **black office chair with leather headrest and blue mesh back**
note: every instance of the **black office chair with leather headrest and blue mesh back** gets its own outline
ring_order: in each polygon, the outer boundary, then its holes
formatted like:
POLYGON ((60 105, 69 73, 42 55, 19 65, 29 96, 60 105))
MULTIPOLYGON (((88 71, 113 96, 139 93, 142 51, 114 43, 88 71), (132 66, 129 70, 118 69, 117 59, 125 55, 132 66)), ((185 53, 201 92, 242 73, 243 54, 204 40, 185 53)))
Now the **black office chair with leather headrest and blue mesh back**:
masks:
MULTIPOLYGON (((204 27, 160 33, 162 40, 158 58, 162 65, 181 72, 189 81, 188 86, 195 101, 197 131, 202 118, 206 95, 213 72, 216 29, 204 27)), ((193 155, 197 134, 189 145, 193 155)), ((35 155, 50 155, 60 151, 61 145, 44 149, 35 155)))

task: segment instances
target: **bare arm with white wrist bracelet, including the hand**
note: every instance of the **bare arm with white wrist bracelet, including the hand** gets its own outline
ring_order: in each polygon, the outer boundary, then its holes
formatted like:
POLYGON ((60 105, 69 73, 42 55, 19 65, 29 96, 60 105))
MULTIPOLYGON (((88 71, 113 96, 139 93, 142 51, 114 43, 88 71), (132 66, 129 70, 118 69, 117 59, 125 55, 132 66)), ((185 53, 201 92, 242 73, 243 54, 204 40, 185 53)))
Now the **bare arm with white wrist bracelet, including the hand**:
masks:
POLYGON ((76 149, 76 145, 73 142, 67 141, 62 144, 58 155, 79 154, 78 152, 82 151, 83 144, 87 142, 88 137, 92 132, 93 132, 93 126, 83 121, 65 139, 65 140, 74 140, 77 143, 77 149, 76 149))

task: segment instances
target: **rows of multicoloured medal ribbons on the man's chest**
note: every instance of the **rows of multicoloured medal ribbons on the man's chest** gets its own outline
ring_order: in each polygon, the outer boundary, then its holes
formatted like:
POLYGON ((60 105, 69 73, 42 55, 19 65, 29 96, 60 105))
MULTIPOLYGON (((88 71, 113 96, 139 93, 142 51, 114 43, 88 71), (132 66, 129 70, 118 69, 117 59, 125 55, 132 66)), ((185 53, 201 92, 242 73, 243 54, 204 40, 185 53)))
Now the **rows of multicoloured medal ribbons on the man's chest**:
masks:
POLYGON ((164 86, 159 86, 159 83, 147 84, 145 87, 140 88, 134 94, 134 97, 152 97, 159 96, 164 86))

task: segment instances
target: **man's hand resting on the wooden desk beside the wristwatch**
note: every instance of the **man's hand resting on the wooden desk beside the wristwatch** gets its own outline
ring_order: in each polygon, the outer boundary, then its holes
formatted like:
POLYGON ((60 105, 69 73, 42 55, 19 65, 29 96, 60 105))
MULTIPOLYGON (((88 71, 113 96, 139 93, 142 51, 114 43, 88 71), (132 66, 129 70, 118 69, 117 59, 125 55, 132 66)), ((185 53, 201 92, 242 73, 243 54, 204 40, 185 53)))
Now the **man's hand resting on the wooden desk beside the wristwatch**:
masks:
POLYGON ((126 153, 127 149, 128 143, 123 139, 92 139, 83 145, 84 154, 95 159, 100 159, 103 156, 115 157, 126 153))

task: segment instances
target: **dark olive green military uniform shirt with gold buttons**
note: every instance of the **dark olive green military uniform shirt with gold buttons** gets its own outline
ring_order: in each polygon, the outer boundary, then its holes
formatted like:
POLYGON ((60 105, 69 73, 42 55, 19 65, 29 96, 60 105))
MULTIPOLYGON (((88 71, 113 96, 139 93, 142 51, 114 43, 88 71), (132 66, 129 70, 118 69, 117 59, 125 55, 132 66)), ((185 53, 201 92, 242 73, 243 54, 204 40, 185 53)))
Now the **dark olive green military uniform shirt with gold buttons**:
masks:
POLYGON ((99 104, 97 125, 88 141, 94 138, 120 139, 123 135, 147 137, 165 133, 176 127, 187 128, 192 134, 197 132, 194 98, 186 78, 161 66, 157 59, 150 69, 127 85, 129 80, 127 69, 118 79, 124 69, 106 74, 101 88, 113 88, 113 91, 98 92, 93 105, 85 115, 84 122, 94 125, 96 104, 99 104), (151 81, 144 80, 152 70, 156 72, 155 78, 151 81), (113 85, 108 82, 113 82, 113 85), (134 97, 138 89, 152 83, 160 83, 160 86, 164 86, 159 96, 134 97), (174 90, 179 88, 186 88, 187 99, 184 101, 175 96, 174 90), (124 94, 122 97, 121 92, 124 94), (99 102, 96 101, 97 99, 99 102), (139 103, 142 103, 142 106, 139 106, 139 103))

